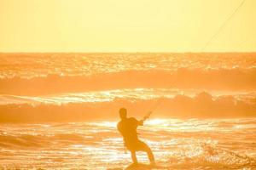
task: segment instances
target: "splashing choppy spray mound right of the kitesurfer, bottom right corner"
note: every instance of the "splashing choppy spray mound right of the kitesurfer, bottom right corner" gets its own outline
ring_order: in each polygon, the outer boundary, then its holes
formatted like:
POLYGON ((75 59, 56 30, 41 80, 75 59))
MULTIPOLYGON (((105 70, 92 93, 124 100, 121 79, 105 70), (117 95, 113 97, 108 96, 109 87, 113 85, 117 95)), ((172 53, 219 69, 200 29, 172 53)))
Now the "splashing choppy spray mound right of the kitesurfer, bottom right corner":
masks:
POLYGON ((256 159, 232 150, 201 144, 193 150, 182 150, 179 156, 171 156, 170 169, 253 169, 256 159))

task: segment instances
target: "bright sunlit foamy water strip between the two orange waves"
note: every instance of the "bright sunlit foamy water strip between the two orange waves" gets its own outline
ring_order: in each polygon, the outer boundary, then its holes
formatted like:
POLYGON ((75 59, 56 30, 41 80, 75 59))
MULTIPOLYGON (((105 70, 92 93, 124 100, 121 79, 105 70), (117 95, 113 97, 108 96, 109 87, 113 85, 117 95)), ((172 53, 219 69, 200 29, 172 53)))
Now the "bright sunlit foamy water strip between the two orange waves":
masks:
MULTIPOLYGON (((66 94, 50 94, 44 96, 20 96, 0 94, 0 105, 9 104, 53 104, 61 105, 68 103, 95 103, 95 102, 114 102, 115 99, 126 99, 128 101, 136 101, 137 99, 172 99, 178 94, 195 97, 200 94, 202 89, 178 89, 178 88, 121 88, 105 91, 90 91, 84 93, 66 93, 66 94)), ((208 90, 212 94, 212 99, 217 99, 222 95, 233 96, 234 99, 248 101, 256 99, 256 91, 251 92, 233 92, 208 90)))

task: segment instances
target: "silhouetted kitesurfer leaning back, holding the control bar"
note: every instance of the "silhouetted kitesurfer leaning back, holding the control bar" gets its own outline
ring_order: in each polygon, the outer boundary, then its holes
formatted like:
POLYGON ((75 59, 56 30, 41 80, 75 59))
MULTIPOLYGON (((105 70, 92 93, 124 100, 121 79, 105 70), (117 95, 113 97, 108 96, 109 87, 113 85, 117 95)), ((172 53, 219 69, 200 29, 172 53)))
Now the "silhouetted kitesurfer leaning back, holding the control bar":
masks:
POLYGON ((137 137, 137 127, 143 126, 142 121, 137 121, 134 117, 127 117, 127 110, 125 108, 121 108, 119 110, 119 116, 121 121, 118 123, 117 127, 119 133, 122 134, 125 147, 127 150, 131 151, 131 159, 134 164, 137 164, 137 156, 136 151, 145 151, 148 154, 148 160, 151 165, 155 165, 154 155, 152 150, 148 147, 148 144, 145 144, 143 141, 138 139, 137 137))

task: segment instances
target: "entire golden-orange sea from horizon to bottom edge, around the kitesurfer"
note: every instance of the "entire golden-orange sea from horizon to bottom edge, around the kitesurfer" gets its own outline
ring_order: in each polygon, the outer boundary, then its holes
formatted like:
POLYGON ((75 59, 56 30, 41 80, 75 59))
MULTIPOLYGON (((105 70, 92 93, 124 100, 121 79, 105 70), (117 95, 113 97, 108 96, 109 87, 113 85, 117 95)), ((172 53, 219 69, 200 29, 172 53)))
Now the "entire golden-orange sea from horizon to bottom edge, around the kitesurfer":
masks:
POLYGON ((127 167, 120 107, 161 166, 256 169, 253 53, 0 54, 0 169, 127 167))

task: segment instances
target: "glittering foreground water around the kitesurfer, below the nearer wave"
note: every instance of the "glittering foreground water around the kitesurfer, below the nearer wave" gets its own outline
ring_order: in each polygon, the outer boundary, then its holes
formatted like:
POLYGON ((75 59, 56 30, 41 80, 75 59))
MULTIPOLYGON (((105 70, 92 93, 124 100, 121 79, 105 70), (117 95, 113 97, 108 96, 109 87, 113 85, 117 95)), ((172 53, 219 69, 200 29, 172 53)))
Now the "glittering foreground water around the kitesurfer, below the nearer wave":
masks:
MULTIPOLYGON (((127 167, 117 122, 0 125, 0 168, 127 167)), ((256 119, 152 119, 139 127, 170 169, 256 169, 256 119)), ((138 160, 147 163, 145 153, 138 160)))

